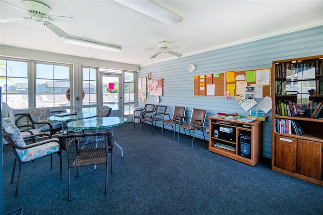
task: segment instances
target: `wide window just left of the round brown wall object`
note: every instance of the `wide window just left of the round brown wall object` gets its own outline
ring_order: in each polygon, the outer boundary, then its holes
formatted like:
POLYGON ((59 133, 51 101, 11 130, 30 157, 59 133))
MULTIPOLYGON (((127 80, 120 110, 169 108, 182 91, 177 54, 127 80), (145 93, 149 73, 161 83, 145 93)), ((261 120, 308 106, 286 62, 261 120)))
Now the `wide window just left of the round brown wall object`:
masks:
POLYGON ((36 108, 70 106, 66 91, 70 88, 71 66, 35 64, 36 108))

